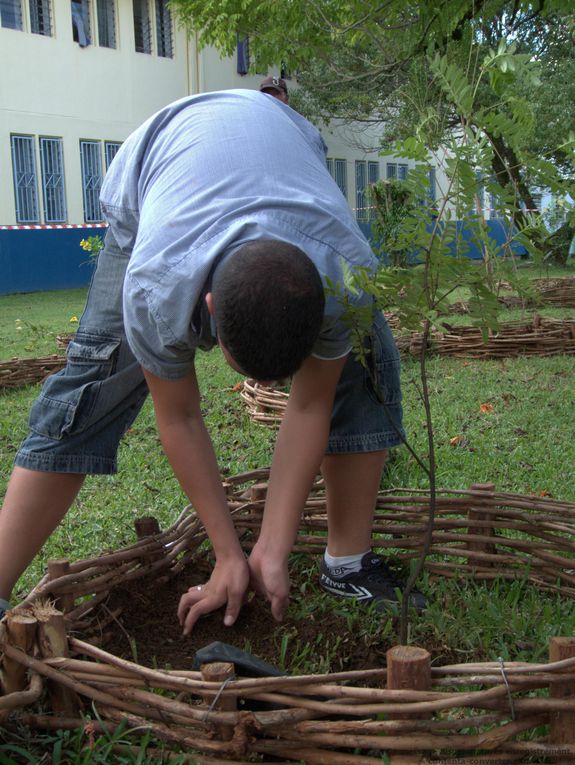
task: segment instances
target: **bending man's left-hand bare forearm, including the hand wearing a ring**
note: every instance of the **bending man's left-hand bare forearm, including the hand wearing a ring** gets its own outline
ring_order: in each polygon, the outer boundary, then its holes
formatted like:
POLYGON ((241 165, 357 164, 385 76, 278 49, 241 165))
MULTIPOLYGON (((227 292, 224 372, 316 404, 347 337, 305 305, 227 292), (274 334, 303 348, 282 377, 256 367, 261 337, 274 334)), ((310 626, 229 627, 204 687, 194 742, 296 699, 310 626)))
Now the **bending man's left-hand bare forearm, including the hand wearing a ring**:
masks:
POLYGON ((200 410, 195 370, 163 380, 144 370, 162 445, 213 546, 216 565, 209 582, 182 596, 178 617, 189 634, 202 614, 227 604, 224 624, 240 612, 249 572, 227 505, 216 455, 200 410))

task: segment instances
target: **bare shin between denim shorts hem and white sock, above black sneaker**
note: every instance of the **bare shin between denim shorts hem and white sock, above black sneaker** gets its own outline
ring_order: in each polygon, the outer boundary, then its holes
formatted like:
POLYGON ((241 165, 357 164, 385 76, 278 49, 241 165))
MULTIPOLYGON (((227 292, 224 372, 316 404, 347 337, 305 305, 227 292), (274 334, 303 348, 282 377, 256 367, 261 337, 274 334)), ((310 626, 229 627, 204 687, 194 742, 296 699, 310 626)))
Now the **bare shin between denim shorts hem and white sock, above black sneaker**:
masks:
POLYGON ((327 551, 334 557, 371 549, 371 528, 387 450, 327 455, 322 464, 326 485, 327 551))

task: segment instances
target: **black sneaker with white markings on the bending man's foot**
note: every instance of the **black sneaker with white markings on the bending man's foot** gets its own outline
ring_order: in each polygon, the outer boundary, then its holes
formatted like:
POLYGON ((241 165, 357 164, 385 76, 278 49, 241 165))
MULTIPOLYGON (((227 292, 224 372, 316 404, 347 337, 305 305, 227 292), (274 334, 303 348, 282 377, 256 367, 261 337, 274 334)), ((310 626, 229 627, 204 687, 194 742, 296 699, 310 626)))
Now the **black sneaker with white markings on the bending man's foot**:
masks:
MULTIPOLYGON (((319 584, 326 592, 340 598, 354 598, 367 605, 375 603, 377 611, 385 611, 390 606, 399 605, 396 591, 401 593, 405 587, 405 582, 372 552, 366 553, 361 559, 361 571, 347 574, 341 579, 330 574, 325 560, 322 559, 319 584)), ((409 595, 409 605, 422 611, 427 601, 421 592, 412 590, 409 595)))

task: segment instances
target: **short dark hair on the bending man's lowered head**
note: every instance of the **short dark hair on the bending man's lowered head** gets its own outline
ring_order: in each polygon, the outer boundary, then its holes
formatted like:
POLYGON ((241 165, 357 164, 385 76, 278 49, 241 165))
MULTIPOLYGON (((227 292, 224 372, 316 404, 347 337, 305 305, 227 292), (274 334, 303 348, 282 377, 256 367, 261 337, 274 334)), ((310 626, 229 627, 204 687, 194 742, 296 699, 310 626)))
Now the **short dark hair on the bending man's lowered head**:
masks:
POLYGON ((218 267, 212 287, 218 338, 256 380, 279 380, 310 355, 323 321, 321 277, 298 247, 259 239, 218 267))

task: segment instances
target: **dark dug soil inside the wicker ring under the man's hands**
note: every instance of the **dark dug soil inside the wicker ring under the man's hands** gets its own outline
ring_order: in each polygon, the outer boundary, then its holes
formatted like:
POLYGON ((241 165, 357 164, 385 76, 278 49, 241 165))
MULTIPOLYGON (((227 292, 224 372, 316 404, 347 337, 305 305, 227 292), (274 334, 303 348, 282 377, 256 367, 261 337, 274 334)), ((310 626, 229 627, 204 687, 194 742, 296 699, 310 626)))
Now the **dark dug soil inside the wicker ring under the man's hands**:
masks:
MULTIPOLYGON (((194 567, 163 584, 149 579, 127 583, 116 588, 106 603, 107 610, 121 613, 102 647, 140 665, 178 670, 192 669, 196 651, 214 641, 247 651, 290 673, 383 666, 397 624, 393 630, 385 630, 388 637, 382 640, 373 617, 363 624, 365 612, 322 593, 312 577, 309 569, 292 573, 290 609, 281 624, 263 599, 253 598, 232 627, 223 625, 222 609, 201 618, 189 637, 182 636, 178 602, 188 587, 206 581, 207 572, 194 567)), ((376 619, 397 621, 390 615, 376 619)))

